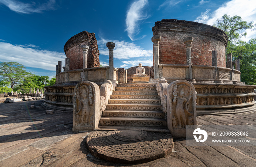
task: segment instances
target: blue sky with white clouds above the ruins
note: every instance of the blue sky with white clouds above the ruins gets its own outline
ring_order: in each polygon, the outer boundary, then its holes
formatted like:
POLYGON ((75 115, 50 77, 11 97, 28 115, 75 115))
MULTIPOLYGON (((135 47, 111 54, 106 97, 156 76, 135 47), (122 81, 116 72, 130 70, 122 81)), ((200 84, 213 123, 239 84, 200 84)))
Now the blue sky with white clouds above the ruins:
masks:
MULTIPOLYGON (((107 42, 115 42, 114 67, 153 66, 152 27, 162 19, 212 25, 240 15, 256 23, 255 0, 0 0, 0 62, 16 61, 36 75, 55 75, 65 65, 63 47, 72 36, 95 33, 101 65, 107 42)), ((256 37, 247 31, 244 41, 256 37)))

